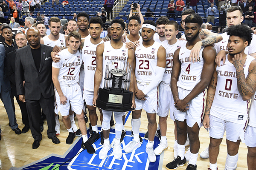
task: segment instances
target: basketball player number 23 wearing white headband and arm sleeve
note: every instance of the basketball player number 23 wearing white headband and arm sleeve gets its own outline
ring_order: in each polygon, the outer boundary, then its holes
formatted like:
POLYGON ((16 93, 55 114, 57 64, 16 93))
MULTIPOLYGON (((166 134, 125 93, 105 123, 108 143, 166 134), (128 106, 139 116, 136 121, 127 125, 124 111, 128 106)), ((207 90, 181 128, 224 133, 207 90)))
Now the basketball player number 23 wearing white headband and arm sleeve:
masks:
POLYGON ((141 146, 139 138, 140 116, 142 109, 144 109, 148 117, 148 144, 146 146, 146 152, 148 153, 148 160, 150 162, 156 161, 153 145, 154 135, 157 130, 157 85, 162 81, 166 67, 166 50, 160 43, 155 42, 153 39, 156 27, 154 21, 144 21, 142 25, 143 43, 135 50, 136 66, 134 68, 137 81, 135 83, 136 108, 132 112, 131 119, 134 139, 125 148, 125 152, 130 153, 141 146))

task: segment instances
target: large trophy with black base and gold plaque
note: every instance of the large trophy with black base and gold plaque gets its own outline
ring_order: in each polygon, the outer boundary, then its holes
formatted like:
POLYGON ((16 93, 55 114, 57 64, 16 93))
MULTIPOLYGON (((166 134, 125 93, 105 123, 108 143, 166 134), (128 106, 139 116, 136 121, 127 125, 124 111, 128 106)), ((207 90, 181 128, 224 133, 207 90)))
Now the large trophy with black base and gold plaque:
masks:
POLYGON ((99 88, 99 97, 96 101, 98 108, 118 112, 132 110, 133 92, 129 91, 131 70, 131 65, 127 60, 108 62, 105 69, 104 87, 99 88))

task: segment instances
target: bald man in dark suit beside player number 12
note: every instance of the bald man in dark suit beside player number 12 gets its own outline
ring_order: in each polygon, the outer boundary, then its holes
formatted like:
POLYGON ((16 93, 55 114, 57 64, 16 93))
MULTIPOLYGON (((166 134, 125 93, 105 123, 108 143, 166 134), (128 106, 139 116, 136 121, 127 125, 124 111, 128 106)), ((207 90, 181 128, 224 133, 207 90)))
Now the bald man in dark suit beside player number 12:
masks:
POLYGON ((52 47, 40 44, 40 32, 37 28, 27 31, 29 45, 16 52, 15 74, 17 95, 26 102, 29 116, 29 127, 35 139, 32 148, 40 145, 41 108, 46 115, 49 139, 55 144, 60 143, 55 136, 54 90, 52 82, 52 47), (25 84, 23 85, 23 80, 25 84), (25 100, 26 99, 26 100, 25 100))

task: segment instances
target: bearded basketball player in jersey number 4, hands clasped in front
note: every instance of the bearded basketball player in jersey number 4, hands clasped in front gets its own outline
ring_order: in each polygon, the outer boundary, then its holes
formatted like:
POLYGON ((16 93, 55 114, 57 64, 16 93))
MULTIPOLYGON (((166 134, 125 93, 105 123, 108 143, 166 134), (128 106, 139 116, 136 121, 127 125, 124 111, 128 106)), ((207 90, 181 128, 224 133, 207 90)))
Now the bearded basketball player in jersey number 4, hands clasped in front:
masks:
POLYGON ((202 18, 190 14, 185 19, 187 43, 175 51, 171 76, 171 89, 175 102, 174 116, 177 124, 177 153, 167 169, 176 169, 186 165, 185 143, 187 133, 190 141, 190 159, 186 170, 196 170, 196 161, 200 141, 198 138, 204 111, 205 89, 209 85, 214 71, 215 49, 212 46, 201 48, 200 61, 189 62, 189 54, 195 43, 200 41, 202 18))

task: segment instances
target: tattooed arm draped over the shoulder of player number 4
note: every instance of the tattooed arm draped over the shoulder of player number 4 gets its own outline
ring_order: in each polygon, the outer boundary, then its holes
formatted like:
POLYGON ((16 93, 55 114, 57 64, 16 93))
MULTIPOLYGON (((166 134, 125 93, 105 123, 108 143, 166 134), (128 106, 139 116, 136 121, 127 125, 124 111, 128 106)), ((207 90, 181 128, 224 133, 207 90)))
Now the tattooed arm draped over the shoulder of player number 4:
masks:
POLYGON ((202 46, 212 45, 222 40, 221 34, 213 33, 208 29, 202 29, 199 33, 199 37, 203 40, 198 41, 192 48, 189 61, 197 62, 202 46))

